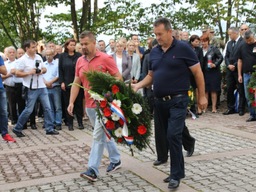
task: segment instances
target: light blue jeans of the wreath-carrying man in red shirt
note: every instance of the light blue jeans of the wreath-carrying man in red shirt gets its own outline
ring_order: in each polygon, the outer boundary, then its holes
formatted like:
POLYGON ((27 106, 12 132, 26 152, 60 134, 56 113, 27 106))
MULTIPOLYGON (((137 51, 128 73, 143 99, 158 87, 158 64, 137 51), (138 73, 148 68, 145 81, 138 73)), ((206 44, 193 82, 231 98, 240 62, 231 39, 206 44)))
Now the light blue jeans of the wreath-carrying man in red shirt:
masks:
POLYGON ((91 154, 88 161, 88 166, 95 171, 95 174, 99 175, 99 164, 103 156, 104 147, 109 153, 109 158, 112 163, 118 163, 120 161, 120 153, 113 138, 109 142, 106 142, 106 134, 102 129, 102 125, 98 120, 98 116, 95 112, 95 108, 86 108, 86 113, 90 118, 90 121, 94 127, 93 131, 93 145, 91 154))

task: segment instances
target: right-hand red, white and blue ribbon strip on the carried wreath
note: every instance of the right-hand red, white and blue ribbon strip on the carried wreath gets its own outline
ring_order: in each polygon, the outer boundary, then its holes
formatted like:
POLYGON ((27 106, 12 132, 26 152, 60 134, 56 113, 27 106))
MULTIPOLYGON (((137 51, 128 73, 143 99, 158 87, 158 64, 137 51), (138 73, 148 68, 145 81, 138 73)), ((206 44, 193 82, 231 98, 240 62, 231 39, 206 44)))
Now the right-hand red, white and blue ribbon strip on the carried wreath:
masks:
POLYGON ((124 139, 126 140, 126 142, 128 144, 133 144, 133 137, 128 137, 128 127, 127 127, 127 124, 126 124, 126 121, 125 121, 125 117, 124 117, 123 111, 114 102, 109 103, 109 104, 110 104, 110 109, 113 112, 115 112, 124 122, 123 123, 123 131, 122 131, 124 139))

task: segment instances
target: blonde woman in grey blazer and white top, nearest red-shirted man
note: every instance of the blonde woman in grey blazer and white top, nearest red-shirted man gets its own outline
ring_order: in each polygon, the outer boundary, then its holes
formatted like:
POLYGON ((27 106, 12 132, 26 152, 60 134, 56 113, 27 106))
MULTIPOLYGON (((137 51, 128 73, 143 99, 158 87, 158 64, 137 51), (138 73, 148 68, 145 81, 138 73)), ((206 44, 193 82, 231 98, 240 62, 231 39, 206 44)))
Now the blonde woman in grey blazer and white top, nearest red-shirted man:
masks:
POLYGON ((116 52, 112 55, 116 61, 117 68, 124 78, 125 82, 131 80, 131 70, 132 70, 132 58, 129 54, 123 52, 123 42, 118 40, 115 43, 116 52))

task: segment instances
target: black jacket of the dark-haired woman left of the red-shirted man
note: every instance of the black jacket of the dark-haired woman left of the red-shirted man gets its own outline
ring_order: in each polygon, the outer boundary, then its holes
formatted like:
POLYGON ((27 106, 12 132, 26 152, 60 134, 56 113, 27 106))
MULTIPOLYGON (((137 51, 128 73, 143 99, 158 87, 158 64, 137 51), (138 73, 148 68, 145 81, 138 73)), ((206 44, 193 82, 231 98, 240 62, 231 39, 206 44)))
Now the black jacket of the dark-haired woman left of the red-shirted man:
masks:
POLYGON ((82 54, 75 52, 73 58, 68 52, 60 54, 59 57, 59 83, 65 83, 66 89, 71 89, 70 83, 73 83, 76 72, 76 62, 82 54))

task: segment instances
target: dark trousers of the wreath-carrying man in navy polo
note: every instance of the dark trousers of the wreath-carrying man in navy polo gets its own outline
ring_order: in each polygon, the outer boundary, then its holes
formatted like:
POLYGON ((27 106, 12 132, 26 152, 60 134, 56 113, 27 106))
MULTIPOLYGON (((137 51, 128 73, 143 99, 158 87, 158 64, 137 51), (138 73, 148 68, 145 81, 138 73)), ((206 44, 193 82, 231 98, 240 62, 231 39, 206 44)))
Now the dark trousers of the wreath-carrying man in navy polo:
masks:
MULTIPOLYGON (((182 154, 182 132, 184 130, 188 99, 188 95, 176 97, 168 101, 155 99, 157 156, 159 160, 167 160, 169 150, 170 167, 172 167, 170 170, 170 178, 176 181, 180 180, 181 175, 185 174, 184 158, 182 154)), ((186 129, 184 131, 188 132, 186 129)), ((190 136, 189 133, 185 135, 190 136)), ((187 150, 188 144, 185 144, 185 147, 187 150)))

